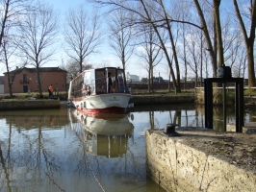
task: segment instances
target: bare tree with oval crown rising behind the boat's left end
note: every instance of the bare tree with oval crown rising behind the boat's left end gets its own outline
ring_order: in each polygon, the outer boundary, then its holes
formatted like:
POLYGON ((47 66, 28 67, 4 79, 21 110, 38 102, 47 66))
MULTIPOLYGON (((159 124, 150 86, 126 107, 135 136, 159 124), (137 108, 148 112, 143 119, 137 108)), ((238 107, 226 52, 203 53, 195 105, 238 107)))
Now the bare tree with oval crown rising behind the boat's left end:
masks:
POLYGON ((102 43, 100 33, 100 17, 97 12, 90 14, 83 6, 70 9, 64 25, 65 52, 68 57, 79 63, 80 72, 83 63, 91 54, 97 53, 102 43))

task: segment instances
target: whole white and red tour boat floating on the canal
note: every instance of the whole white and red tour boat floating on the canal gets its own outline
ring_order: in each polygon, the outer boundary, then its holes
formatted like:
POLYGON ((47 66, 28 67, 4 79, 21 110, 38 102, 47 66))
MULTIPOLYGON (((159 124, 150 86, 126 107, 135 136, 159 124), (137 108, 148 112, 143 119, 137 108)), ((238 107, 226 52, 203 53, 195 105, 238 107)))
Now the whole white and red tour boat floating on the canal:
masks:
POLYGON ((86 113, 123 113, 131 97, 125 72, 116 67, 85 70, 68 90, 68 104, 86 113))

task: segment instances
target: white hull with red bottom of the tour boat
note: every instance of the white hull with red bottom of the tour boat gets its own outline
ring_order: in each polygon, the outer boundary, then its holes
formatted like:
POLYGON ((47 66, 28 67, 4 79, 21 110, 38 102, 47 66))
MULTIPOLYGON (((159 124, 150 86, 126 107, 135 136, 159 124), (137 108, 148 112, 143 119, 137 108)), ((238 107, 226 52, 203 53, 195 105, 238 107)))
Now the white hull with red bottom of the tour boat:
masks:
POLYGON ((125 112, 131 94, 111 93, 70 99, 70 105, 83 112, 125 112))

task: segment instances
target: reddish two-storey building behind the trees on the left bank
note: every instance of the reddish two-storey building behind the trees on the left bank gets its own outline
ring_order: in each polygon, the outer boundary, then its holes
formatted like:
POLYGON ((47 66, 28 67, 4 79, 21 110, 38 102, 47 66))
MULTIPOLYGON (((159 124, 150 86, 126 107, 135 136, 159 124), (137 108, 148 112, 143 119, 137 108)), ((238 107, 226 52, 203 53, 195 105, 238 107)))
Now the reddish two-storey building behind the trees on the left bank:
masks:
MULTIPOLYGON (((55 91, 65 91, 66 71, 59 67, 40 67, 39 68, 41 89, 48 92, 48 87, 53 84, 55 91)), ((5 93, 9 93, 8 75, 5 75, 5 93)), ((36 68, 16 68, 10 71, 11 81, 13 82, 13 93, 27 93, 38 91, 38 75, 36 68)))

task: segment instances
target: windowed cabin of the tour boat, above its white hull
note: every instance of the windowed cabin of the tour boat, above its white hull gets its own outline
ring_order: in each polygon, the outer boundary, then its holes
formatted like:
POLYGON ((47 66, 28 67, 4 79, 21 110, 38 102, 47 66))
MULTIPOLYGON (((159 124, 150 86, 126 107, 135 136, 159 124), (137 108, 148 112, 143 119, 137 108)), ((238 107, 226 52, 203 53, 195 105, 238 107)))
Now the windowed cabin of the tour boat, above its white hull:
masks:
POLYGON ((98 94, 127 93, 125 72, 115 67, 90 69, 82 72, 70 82, 71 97, 98 94))

